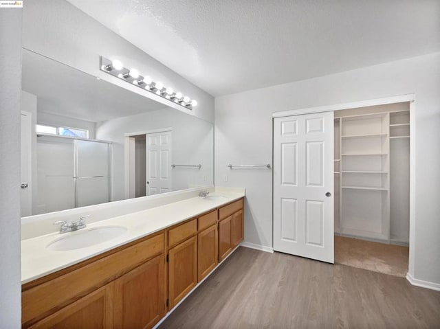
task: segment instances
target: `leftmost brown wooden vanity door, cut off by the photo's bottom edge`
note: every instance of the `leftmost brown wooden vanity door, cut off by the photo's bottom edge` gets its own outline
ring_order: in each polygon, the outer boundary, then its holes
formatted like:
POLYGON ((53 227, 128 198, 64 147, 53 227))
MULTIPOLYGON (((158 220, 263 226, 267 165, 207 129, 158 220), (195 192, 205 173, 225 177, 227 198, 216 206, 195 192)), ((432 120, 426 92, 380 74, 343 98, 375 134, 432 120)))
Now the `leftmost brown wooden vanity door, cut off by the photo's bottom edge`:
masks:
POLYGON ((30 328, 113 328, 113 284, 89 293, 30 328))

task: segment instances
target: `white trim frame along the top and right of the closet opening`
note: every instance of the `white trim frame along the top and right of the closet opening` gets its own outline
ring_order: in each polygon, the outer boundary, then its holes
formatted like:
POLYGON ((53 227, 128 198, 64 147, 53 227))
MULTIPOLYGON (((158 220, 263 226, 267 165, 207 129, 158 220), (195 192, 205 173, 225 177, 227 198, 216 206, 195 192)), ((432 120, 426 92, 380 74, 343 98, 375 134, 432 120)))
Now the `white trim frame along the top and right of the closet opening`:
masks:
MULTIPOLYGON (((327 106, 317 106, 306 109, 288 110, 272 113, 272 121, 275 117, 287 117, 291 115, 311 114, 328 111, 338 111, 345 109, 357 109, 366 106, 377 106, 393 104, 400 102, 410 103, 410 241, 409 241, 409 263, 406 279, 412 284, 415 272, 415 93, 393 96, 388 98, 375 98, 372 100, 361 100, 358 102, 349 102, 327 106)), ((273 133, 272 133, 273 135, 273 133)), ((273 150, 272 150, 273 152, 273 150)), ((272 155, 273 156, 273 155, 272 155)), ((273 207, 273 205, 272 205, 273 207)))

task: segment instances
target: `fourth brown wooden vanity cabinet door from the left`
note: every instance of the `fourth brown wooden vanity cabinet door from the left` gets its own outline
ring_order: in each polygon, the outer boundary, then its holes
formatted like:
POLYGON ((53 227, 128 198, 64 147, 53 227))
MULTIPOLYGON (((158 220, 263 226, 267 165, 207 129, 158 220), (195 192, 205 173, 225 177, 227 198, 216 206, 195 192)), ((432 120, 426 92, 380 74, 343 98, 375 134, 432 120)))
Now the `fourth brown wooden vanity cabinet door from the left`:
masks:
POLYGON ((217 225, 201 231, 197 236, 197 259, 199 281, 206 277, 218 264, 219 260, 219 234, 217 225))

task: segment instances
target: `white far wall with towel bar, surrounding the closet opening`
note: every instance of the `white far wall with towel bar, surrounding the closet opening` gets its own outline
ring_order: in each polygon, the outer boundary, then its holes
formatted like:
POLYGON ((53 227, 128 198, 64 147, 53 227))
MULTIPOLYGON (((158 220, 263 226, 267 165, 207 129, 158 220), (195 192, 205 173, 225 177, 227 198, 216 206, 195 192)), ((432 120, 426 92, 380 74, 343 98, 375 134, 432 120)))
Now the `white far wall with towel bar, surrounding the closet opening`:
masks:
POLYGON ((226 166, 272 163, 273 112, 408 93, 416 95, 417 132, 410 275, 440 284, 440 53, 216 98, 215 184, 246 188, 245 241, 272 247, 272 172, 226 166))

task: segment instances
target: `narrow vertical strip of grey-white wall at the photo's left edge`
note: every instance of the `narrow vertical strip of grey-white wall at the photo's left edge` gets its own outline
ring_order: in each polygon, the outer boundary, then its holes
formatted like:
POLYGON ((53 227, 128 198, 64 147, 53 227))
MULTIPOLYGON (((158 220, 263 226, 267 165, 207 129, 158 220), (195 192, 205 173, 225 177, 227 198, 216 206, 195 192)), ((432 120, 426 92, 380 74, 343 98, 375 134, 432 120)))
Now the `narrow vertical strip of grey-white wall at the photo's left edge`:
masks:
POLYGON ((19 8, 0 9, 0 328, 21 328, 19 8))

